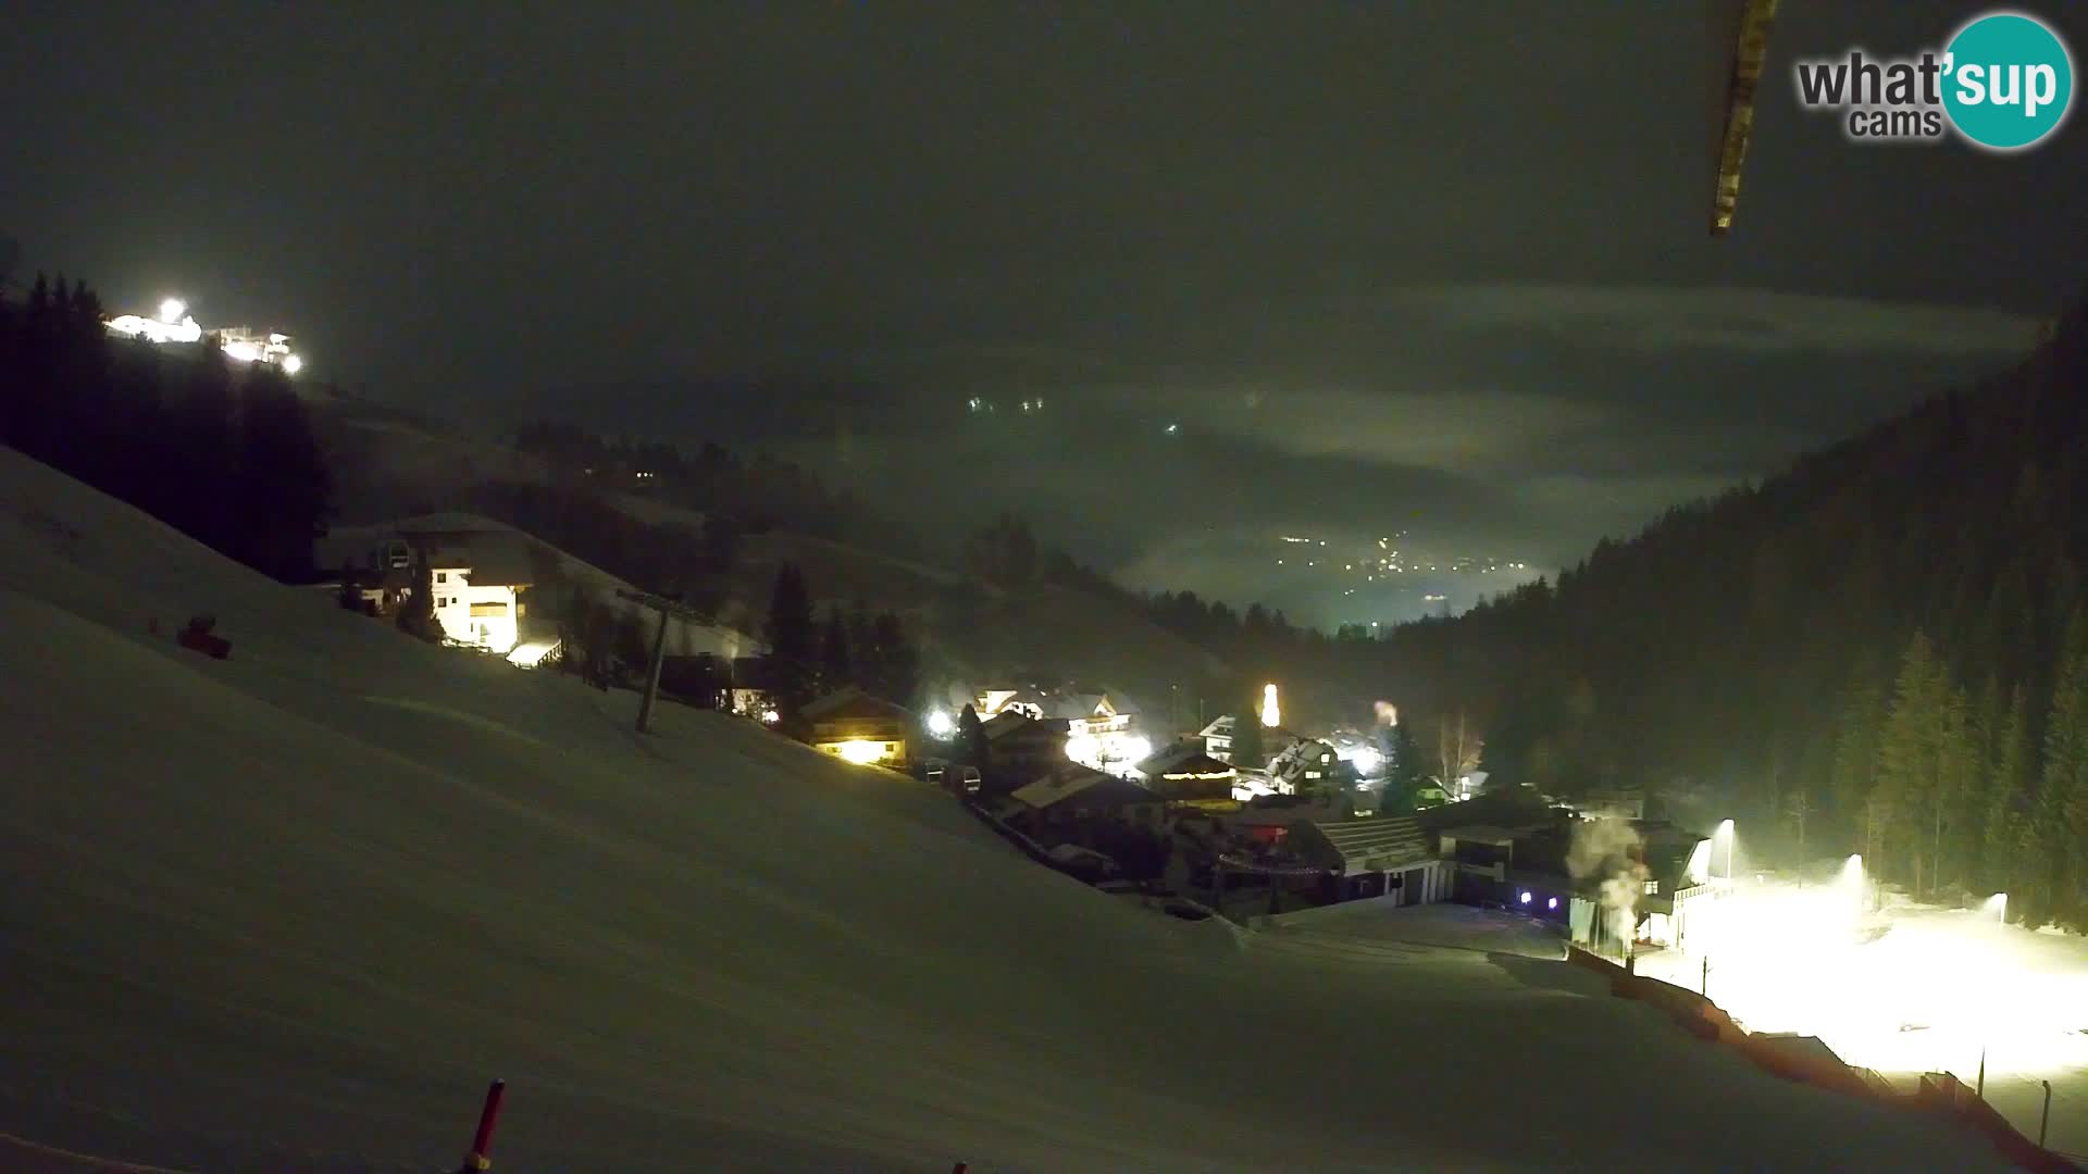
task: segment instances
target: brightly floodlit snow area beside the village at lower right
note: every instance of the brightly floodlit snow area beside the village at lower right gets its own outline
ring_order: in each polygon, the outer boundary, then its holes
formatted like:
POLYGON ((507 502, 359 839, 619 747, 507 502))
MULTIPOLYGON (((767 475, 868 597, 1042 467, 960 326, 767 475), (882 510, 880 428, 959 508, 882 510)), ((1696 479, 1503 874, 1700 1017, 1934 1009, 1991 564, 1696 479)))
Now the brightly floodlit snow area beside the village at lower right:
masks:
MULTIPOLYGON (((1723 877, 1714 877, 1723 884, 1723 877)), ((2038 1136, 2053 1082, 2050 1147, 2088 1153, 2088 940, 1881 890, 1850 856, 1817 877, 1741 873, 1691 905, 1683 948, 1639 953, 1637 971, 1702 990, 1750 1032, 1819 1036, 1900 1086, 1950 1072, 2038 1136)))

